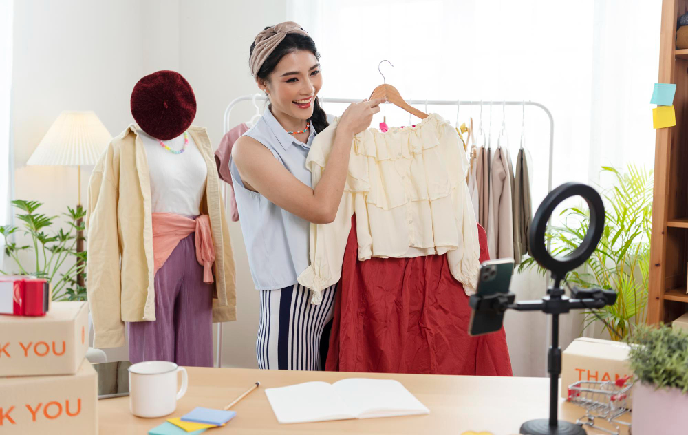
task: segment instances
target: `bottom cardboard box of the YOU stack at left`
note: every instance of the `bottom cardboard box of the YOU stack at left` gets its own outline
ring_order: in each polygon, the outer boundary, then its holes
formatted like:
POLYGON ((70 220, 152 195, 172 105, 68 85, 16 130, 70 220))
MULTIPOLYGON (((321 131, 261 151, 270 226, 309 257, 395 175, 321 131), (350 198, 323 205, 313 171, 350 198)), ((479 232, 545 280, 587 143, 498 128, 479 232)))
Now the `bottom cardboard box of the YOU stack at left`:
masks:
POLYGON ((0 378, 0 434, 98 434, 98 376, 83 360, 76 374, 0 378))

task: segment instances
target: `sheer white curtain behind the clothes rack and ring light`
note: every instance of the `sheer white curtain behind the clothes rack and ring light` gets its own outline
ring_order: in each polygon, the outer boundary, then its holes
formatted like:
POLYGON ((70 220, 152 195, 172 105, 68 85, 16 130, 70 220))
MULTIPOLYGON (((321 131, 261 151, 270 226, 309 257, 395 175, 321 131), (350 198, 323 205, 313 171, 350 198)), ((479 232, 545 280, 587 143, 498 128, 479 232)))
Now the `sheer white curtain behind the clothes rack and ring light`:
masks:
MULTIPOLYGON (((367 98, 383 82, 413 100, 533 100, 555 119, 553 183, 599 182, 601 165, 635 162, 652 169, 649 97, 657 80, 660 0, 350 0, 288 1, 288 19, 313 36, 321 52, 325 98, 367 98)), ((456 107, 419 107, 456 119, 456 107)), ((345 105, 327 103, 341 114, 345 105)), ((409 123, 386 105, 374 126, 409 123)), ((480 108, 460 107, 460 123, 480 108)), ((522 134, 518 106, 482 109, 493 143, 502 126, 512 154, 522 134), (503 116, 504 113, 504 116, 503 116)), ((526 108, 526 147, 533 156, 533 207, 547 193, 548 119, 526 108)), ((515 275, 518 299, 539 299, 546 282, 515 275)), ((506 332, 515 374, 546 374, 546 317, 509 312, 506 332)), ((581 333, 581 316, 561 319, 561 346, 581 333)))

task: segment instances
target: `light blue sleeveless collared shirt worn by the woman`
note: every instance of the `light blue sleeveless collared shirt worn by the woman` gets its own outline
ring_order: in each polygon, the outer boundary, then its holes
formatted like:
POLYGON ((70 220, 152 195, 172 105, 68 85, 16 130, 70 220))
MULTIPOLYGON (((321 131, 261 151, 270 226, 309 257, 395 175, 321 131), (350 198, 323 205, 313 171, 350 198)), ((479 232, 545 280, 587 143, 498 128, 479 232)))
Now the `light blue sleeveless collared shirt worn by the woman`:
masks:
MULTIPOLYGON (((310 129, 308 141, 303 143, 287 133, 268 107, 244 135, 265 145, 288 171, 303 184, 312 187, 305 158, 316 135, 314 128, 310 129)), ((310 222, 281 209, 260 193, 246 189, 231 158, 229 169, 248 265, 256 288, 277 290, 297 284, 297 277, 310 266, 310 222)))

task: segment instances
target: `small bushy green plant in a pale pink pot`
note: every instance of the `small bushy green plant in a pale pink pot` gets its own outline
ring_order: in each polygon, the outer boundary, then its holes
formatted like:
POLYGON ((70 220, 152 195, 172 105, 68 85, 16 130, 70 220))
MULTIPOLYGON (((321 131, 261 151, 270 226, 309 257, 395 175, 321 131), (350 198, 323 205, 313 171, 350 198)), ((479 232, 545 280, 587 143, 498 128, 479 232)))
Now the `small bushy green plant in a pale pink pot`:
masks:
POLYGON ((627 342, 632 344, 629 360, 636 378, 633 433, 687 433, 688 332, 639 325, 627 342))

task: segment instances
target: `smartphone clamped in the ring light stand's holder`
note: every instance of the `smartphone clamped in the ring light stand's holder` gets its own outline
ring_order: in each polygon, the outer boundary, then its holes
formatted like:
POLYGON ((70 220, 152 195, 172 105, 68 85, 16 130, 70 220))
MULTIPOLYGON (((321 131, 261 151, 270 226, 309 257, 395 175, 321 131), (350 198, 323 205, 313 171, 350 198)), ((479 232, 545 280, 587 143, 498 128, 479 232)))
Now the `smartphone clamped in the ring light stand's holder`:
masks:
MULTIPOLYGON (((480 266, 475 293, 480 296, 509 293, 514 260, 511 258, 491 259, 480 266)), ((469 335, 483 335, 502 329, 504 312, 471 310, 469 335)))

